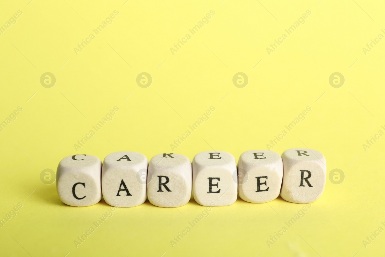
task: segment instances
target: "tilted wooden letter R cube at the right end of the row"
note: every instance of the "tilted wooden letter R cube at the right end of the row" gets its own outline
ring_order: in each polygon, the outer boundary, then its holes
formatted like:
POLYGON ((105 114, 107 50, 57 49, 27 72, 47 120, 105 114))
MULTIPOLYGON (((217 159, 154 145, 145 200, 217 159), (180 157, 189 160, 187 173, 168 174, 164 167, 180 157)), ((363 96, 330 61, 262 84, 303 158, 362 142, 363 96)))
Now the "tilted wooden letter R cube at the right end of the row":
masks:
POLYGON ((292 203, 311 203, 321 197, 326 183, 326 160, 319 151, 288 149, 282 154, 281 197, 292 203))

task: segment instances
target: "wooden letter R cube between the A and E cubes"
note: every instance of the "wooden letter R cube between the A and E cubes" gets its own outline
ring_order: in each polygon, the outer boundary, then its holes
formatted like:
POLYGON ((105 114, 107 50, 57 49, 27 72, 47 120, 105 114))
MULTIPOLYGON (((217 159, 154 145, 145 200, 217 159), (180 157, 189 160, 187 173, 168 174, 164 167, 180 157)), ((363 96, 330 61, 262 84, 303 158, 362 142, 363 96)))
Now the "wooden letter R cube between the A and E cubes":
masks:
POLYGON ((191 161, 177 153, 162 153, 148 166, 148 200, 159 207, 179 207, 191 198, 191 161))

